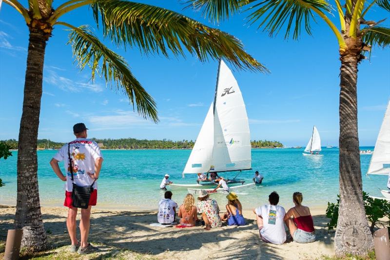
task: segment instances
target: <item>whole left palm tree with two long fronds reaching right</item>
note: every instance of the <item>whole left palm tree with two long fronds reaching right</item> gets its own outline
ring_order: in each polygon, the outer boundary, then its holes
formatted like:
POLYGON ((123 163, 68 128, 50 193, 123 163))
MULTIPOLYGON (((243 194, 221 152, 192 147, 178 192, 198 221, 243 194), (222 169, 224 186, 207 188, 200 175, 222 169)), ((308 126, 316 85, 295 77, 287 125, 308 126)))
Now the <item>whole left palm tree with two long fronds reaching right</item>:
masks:
POLYGON ((74 26, 60 19, 83 6, 91 7, 96 25, 104 38, 119 47, 137 46, 145 54, 168 57, 189 53, 201 61, 222 58, 236 68, 266 71, 247 54, 242 43, 220 30, 164 8, 126 0, 67 0, 57 8, 53 0, 28 0, 28 8, 18 0, 3 0, 14 7, 29 28, 27 69, 24 83, 23 112, 18 145, 18 195, 16 228, 23 228, 22 246, 34 250, 46 247, 41 219, 37 178, 37 137, 42 95, 43 60, 46 42, 55 27, 69 31, 69 44, 83 70, 91 68, 113 88, 129 97, 140 116, 158 121, 156 103, 133 76, 127 62, 108 49, 87 25, 74 26))

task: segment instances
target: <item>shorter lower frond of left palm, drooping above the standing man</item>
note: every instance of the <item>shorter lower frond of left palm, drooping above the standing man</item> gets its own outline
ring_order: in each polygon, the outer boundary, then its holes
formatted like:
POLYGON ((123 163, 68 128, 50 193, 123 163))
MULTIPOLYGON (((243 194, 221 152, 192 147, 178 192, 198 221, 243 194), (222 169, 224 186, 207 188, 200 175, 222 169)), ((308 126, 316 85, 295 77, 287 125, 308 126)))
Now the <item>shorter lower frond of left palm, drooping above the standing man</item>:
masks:
POLYGON ((133 76, 123 57, 101 43, 87 26, 74 27, 64 22, 57 24, 71 27, 68 43, 72 46, 81 70, 88 65, 92 70, 92 79, 95 78, 95 72, 98 72, 99 77, 104 78, 111 87, 114 84, 117 89, 122 89, 126 93, 133 104, 133 110, 136 104, 139 115, 158 122, 155 100, 133 76))

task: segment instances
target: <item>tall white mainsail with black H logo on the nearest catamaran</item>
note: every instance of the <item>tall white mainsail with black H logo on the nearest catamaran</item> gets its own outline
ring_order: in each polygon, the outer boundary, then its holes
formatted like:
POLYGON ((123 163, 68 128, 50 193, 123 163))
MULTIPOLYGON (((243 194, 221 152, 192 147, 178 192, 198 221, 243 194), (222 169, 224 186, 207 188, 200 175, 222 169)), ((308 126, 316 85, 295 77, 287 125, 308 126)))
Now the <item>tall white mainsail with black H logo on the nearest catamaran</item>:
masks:
POLYGON ((233 73, 221 60, 215 93, 211 171, 250 169, 251 163, 251 134, 244 100, 233 73))

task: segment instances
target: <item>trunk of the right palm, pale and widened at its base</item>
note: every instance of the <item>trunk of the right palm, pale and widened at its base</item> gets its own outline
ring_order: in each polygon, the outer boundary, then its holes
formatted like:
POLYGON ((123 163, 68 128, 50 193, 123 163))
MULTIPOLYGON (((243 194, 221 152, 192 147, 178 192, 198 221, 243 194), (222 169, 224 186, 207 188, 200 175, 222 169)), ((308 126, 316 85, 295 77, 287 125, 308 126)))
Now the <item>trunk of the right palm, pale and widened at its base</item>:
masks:
POLYGON ((373 240, 363 204, 357 132, 356 83, 360 50, 351 51, 340 60, 340 208, 334 246, 337 256, 366 255, 372 249, 373 240))

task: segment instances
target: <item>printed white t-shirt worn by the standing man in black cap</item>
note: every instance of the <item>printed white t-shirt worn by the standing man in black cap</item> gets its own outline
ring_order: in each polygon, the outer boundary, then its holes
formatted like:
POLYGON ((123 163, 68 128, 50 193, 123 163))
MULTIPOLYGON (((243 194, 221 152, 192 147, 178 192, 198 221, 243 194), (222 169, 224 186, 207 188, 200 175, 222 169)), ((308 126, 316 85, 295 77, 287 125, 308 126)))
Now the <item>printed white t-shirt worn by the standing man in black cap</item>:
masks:
MULTIPOLYGON (((95 160, 99 157, 103 158, 98 144, 89 139, 78 138, 70 142, 70 155, 73 159, 74 183, 80 187, 91 186, 94 180, 89 177, 88 172, 94 173, 95 160)), ((72 191, 73 185, 68 157, 68 144, 64 144, 53 158, 58 161, 65 160, 66 191, 72 191)), ((93 188, 98 188, 97 181, 95 181, 93 188)))

